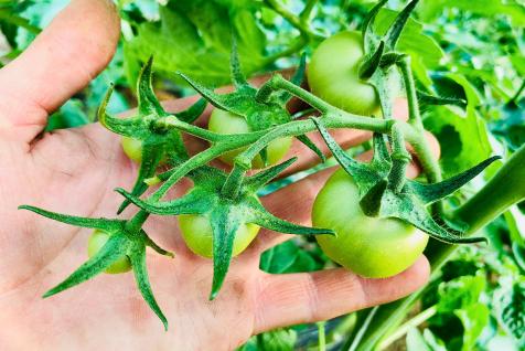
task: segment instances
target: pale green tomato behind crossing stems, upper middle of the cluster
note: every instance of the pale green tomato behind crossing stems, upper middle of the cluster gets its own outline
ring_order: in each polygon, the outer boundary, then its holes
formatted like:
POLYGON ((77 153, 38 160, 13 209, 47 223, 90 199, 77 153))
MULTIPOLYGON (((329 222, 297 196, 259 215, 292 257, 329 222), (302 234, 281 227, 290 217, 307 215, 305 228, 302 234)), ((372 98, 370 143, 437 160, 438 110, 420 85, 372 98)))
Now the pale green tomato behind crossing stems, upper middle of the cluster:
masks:
MULTIPOLYGON (((210 123, 207 128, 211 131, 217 134, 242 134, 249 132, 249 126, 246 123, 246 119, 242 116, 234 115, 232 113, 225 111, 219 108, 215 108, 210 116, 210 123)), ((268 143, 268 164, 276 164, 281 160, 285 155, 288 152, 291 146, 291 137, 280 138, 268 143)), ((229 152, 226 152, 219 157, 219 159, 228 164, 234 163, 234 158, 246 150, 246 148, 236 149, 229 152)), ((262 159, 257 155, 251 166, 254 168, 262 168, 262 159)))

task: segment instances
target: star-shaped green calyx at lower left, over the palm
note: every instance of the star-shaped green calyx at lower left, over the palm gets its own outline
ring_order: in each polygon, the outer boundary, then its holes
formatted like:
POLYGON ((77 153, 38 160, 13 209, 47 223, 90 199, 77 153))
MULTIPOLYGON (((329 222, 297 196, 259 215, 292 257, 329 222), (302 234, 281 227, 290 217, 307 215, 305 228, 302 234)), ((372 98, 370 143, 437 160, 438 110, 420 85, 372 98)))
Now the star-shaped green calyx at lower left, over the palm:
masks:
POLYGON ((174 257, 172 253, 161 248, 142 228, 132 230, 132 226, 129 225, 129 221, 79 217, 60 214, 30 205, 21 205, 19 209, 32 211, 47 219, 78 227, 100 230, 109 235, 109 238, 96 255, 81 265, 61 284, 46 291, 43 295, 44 298, 69 289, 99 275, 100 273, 104 273, 104 270, 126 255, 129 257, 131 263, 135 279, 142 297, 162 321, 164 329, 168 330, 168 320, 157 304, 148 278, 146 247, 149 246, 157 253, 169 257, 174 257))

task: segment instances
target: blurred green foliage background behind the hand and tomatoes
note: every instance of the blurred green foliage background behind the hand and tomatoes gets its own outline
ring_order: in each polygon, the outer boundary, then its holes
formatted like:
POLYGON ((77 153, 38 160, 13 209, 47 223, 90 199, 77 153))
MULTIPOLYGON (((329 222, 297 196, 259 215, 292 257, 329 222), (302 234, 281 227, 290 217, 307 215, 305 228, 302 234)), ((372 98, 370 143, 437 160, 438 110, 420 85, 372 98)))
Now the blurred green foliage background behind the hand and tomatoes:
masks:
MULTIPOLYGON (((0 1, 0 62, 22 53, 66 0, 0 1)), ((232 32, 246 74, 293 66, 301 52, 311 53, 322 36, 358 29, 366 0, 281 0, 288 14, 313 4, 310 30, 298 28, 287 13, 262 0, 119 0, 122 34, 115 59, 88 87, 50 118, 47 130, 94 121, 109 83, 116 94, 109 109, 135 106, 135 81, 141 64, 154 55, 156 89, 163 98, 193 91, 176 72, 215 86, 229 82, 232 32)), ((386 28, 405 1, 390 0, 377 19, 386 28)), ((426 127, 441 145, 444 174, 453 176, 493 152, 508 157, 525 141, 525 1, 421 0, 400 40, 413 57, 421 91, 467 98, 465 108, 424 108, 426 127)), ((366 146, 365 146, 366 148, 366 146)), ((358 149, 362 150, 362 149, 358 149)), ((355 152, 355 150, 354 150, 355 152)), ((495 168, 488 172, 493 172, 495 168)), ((294 176, 268 191, 304 177, 294 176)), ((447 203, 472 194, 483 181, 457 193, 447 203)), ((522 206, 523 209, 523 206, 522 206)), ((484 228, 490 245, 462 247, 427 287, 416 308, 436 312, 409 328, 406 339, 389 349, 524 350, 525 349, 525 216, 515 206, 484 228), (399 345, 401 342, 401 347, 399 345)), ((308 240, 283 243, 261 257, 269 273, 333 267, 308 240)), ((355 316, 326 326, 328 350, 340 350, 352 332, 355 316)), ((317 326, 296 326, 254 337, 242 349, 313 350, 317 326)), ((401 336, 405 338, 405 336, 401 336)))

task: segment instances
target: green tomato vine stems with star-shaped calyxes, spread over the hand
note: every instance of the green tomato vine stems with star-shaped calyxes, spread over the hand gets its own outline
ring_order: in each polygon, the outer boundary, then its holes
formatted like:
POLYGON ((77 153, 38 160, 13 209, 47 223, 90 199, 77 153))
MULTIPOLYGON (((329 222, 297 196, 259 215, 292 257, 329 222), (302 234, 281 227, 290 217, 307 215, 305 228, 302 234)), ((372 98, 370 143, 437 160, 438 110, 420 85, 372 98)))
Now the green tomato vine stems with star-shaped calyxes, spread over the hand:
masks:
MULTIPOLYGON (((319 35, 308 26, 311 7, 307 7, 297 18, 277 7, 275 1, 267 2, 296 25, 300 30, 301 36, 309 38, 308 40, 319 39, 319 35)), ((409 2, 399 12, 388 31, 379 35, 374 30, 373 23, 386 2, 387 0, 379 1, 364 22, 362 39, 365 55, 358 70, 360 78, 374 86, 381 103, 383 118, 345 111, 302 88, 300 84, 304 75, 304 57, 290 81, 275 74, 260 87, 251 86, 242 73, 235 38, 231 56, 232 81, 235 87, 233 93, 217 94, 184 73, 180 73, 180 76, 193 86, 202 99, 184 111, 170 114, 159 103, 151 85, 153 59, 146 63, 138 78, 139 106, 136 116, 120 119, 107 113, 107 105, 113 93, 113 88, 110 88, 98 110, 100 124, 115 134, 141 142, 140 169, 133 188, 129 192, 122 189, 117 190, 125 198, 117 214, 120 214, 131 203, 138 206, 139 211, 130 220, 85 219, 30 205, 20 206, 20 209, 33 211, 55 221, 95 228, 108 234, 107 242, 93 257, 63 283, 47 291, 44 297, 90 279, 126 256, 129 258, 138 288, 144 300, 168 328, 168 320, 158 306, 149 284, 146 247, 149 246, 164 256, 172 257, 173 254, 159 247, 142 230, 150 214, 202 215, 208 219, 213 235, 212 258, 214 263, 211 299, 217 296, 226 278, 235 235, 242 225, 256 224, 272 231, 298 235, 336 235, 338 233, 332 228, 306 227, 278 219, 259 202, 257 191, 278 177, 294 161, 294 158, 248 176, 256 157, 259 156, 262 163, 268 166, 267 148, 270 142, 279 138, 294 137, 321 159, 324 159, 320 149, 306 136, 311 131, 320 132, 341 168, 354 179, 358 188, 360 206, 367 216, 401 220, 447 244, 484 241, 483 237, 473 237, 470 234, 492 220, 496 213, 523 199, 524 194, 522 192, 517 196, 505 195, 505 201, 497 206, 484 205, 492 210, 488 210, 481 219, 475 219, 472 208, 486 201, 490 193, 501 191, 499 187, 506 181, 506 174, 512 173, 515 179, 518 171, 513 168, 523 163, 523 148, 501 170, 499 174, 503 176, 496 176, 492 183, 489 183, 457 213, 450 215, 442 213, 439 206, 440 201, 476 177, 497 157, 492 157, 456 177, 442 180, 441 169, 432 157, 425 138, 418 100, 424 99, 428 104, 461 104, 462 100, 417 92, 410 56, 399 52, 396 44, 418 1, 409 2), (405 88, 409 110, 408 121, 393 119, 393 103, 396 97, 395 89, 390 88, 393 83, 405 88), (307 103, 319 113, 319 116, 294 119, 286 107, 292 97, 307 103), (201 116, 206 102, 218 109, 243 117, 250 131, 222 135, 194 125, 193 121, 201 116), (374 132, 374 157, 369 163, 357 162, 347 156, 328 132, 328 129, 347 128, 374 132), (184 134, 208 141, 210 147, 190 156, 182 141, 184 134), (406 149, 405 142, 413 146, 427 182, 406 178, 406 169, 411 161, 411 156, 406 149), (390 148, 388 148, 388 143, 390 148), (208 166, 210 161, 239 148, 244 148, 244 150, 234 158, 233 169, 228 173, 208 166), (158 174, 158 166, 162 160, 165 160, 171 169, 158 174), (194 187, 179 199, 162 201, 168 191, 184 177, 190 178, 194 187), (151 195, 140 199, 148 187, 156 183, 160 183, 160 187, 151 195), (432 208, 430 204, 437 205, 432 208), (494 210, 494 208, 496 209, 494 210)), ((303 40, 307 39, 301 39, 300 43, 303 40)), ((293 50, 296 51, 297 47, 293 50)), ((440 245, 435 249, 433 256, 432 253, 430 254, 435 265, 446 259, 454 247, 440 245)), ((395 323, 396 319, 404 317, 404 311, 413 304, 414 299, 415 296, 396 302, 397 305, 375 309, 371 318, 383 316, 384 322, 375 323, 369 330, 365 328, 363 348, 366 349, 375 344, 377 336, 381 334, 379 331, 395 323), (395 312, 392 312, 394 308, 395 312), (392 312, 390 316, 386 317, 387 312, 392 312)))

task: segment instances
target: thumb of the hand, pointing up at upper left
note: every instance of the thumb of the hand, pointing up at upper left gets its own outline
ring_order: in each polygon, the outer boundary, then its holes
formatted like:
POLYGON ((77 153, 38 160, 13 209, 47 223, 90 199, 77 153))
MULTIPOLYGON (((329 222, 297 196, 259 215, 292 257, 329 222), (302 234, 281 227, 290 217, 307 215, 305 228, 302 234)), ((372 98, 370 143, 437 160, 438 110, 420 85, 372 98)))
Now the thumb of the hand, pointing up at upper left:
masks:
POLYGON ((118 38, 119 18, 111 1, 72 1, 0 70, 0 128, 23 128, 21 135, 32 140, 47 115, 108 64, 118 38))

